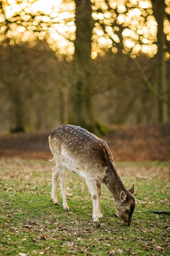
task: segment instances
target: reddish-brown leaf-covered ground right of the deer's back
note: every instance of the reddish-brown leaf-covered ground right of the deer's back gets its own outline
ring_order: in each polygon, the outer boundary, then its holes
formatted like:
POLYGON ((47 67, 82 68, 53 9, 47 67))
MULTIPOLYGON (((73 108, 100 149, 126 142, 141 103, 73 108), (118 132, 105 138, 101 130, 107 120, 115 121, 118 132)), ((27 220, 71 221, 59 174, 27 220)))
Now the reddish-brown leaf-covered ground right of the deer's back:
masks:
POLYGON ((115 129, 105 140, 116 161, 170 160, 170 123, 115 129))

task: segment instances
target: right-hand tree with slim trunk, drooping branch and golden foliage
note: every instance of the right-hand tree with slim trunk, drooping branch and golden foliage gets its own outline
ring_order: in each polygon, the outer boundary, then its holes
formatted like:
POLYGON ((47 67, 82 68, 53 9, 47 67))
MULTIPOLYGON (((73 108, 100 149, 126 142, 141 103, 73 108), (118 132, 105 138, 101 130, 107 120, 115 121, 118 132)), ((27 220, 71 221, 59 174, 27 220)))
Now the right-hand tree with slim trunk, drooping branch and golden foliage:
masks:
MULTIPOLYGON (((162 0, 143 1, 147 6, 143 6, 142 1, 130 0, 122 2, 111 0, 99 2, 93 0, 92 2, 92 8, 94 9, 93 17, 96 20, 95 29, 98 30, 99 35, 95 37, 96 54, 102 54, 108 44, 108 47, 111 48, 113 52, 117 51, 117 47, 118 49, 122 49, 125 54, 130 54, 132 58, 136 58, 136 55, 139 55, 142 49, 145 50, 150 57, 156 55, 157 91, 148 81, 142 66, 138 64, 136 67, 142 74, 142 79, 148 89, 158 98, 159 122, 167 121, 167 105, 165 103, 168 103, 168 101, 166 100, 165 51, 169 51, 169 49, 168 40, 164 33, 164 21, 166 16, 170 13, 167 14, 166 12, 165 2, 162 0), (154 24, 153 15, 157 22, 157 38, 153 30, 147 27, 150 21, 154 24), (145 30, 142 31, 143 27, 145 30), (97 44, 99 37, 104 38, 106 42, 102 48, 97 44), (149 47, 150 51, 147 52, 146 47, 149 47)), ((169 6, 170 4, 167 2, 167 5, 169 6)), ((170 27, 170 23, 167 22, 166 26, 170 27)))

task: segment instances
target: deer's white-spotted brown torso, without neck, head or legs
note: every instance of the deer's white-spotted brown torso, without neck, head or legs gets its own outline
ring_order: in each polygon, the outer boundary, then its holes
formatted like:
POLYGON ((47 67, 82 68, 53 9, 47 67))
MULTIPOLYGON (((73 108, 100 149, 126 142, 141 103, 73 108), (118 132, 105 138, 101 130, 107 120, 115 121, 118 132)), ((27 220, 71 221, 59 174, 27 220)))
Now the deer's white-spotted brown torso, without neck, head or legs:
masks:
POLYGON ((49 145, 56 161, 68 169, 81 169, 95 175, 105 175, 113 157, 105 141, 83 128, 62 125, 49 136, 49 145))

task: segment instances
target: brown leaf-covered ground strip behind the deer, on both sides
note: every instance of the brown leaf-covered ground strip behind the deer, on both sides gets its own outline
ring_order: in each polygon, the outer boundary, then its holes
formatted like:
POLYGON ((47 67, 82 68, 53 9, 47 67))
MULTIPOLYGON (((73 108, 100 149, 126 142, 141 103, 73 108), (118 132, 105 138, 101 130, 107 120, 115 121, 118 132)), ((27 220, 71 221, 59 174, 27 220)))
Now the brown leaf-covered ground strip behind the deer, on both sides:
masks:
MULTIPOLYGON (((51 131, 0 136, 0 157, 51 159, 51 131)), ((113 126, 103 138, 116 161, 170 160, 170 123, 113 126)))

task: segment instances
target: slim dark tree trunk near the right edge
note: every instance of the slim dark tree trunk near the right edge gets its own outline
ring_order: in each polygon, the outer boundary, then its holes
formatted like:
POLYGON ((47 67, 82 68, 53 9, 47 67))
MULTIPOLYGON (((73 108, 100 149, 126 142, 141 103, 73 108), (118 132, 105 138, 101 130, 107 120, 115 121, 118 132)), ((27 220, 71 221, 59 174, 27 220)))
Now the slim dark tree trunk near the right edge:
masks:
MULTIPOLYGON (((164 45, 166 40, 166 35, 164 34, 164 18, 166 17, 165 12, 165 1, 164 0, 153 0, 153 12, 158 24, 157 31, 157 42, 158 42, 158 52, 157 52, 157 81, 158 81, 158 92, 165 99, 167 98, 167 84, 166 84, 166 61, 164 57, 164 45)), ((168 113, 167 105, 158 99, 158 121, 167 122, 168 113)))

